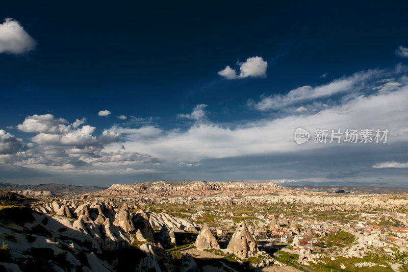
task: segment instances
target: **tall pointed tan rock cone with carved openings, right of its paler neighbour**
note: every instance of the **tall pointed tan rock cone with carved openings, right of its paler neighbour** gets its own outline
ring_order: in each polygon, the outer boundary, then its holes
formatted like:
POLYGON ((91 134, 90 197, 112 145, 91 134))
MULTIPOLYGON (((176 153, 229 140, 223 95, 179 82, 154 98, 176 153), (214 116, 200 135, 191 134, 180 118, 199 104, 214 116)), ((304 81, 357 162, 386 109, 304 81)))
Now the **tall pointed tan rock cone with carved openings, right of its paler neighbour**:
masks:
POLYGON ((257 242, 249 233, 245 222, 238 225, 230 243, 228 243, 227 251, 241 259, 254 257, 258 253, 257 242))

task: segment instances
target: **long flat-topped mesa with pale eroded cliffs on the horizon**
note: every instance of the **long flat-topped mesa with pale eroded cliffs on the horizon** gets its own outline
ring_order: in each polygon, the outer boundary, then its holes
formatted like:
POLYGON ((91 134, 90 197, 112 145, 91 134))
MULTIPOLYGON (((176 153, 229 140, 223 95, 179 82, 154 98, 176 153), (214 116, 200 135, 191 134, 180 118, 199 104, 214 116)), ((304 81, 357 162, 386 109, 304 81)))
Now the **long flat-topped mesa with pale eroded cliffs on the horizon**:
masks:
POLYGON ((281 186, 270 182, 244 181, 158 181, 134 184, 113 184, 103 195, 144 195, 149 196, 203 196, 215 193, 223 195, 258 195, 273 193, 281 186))

